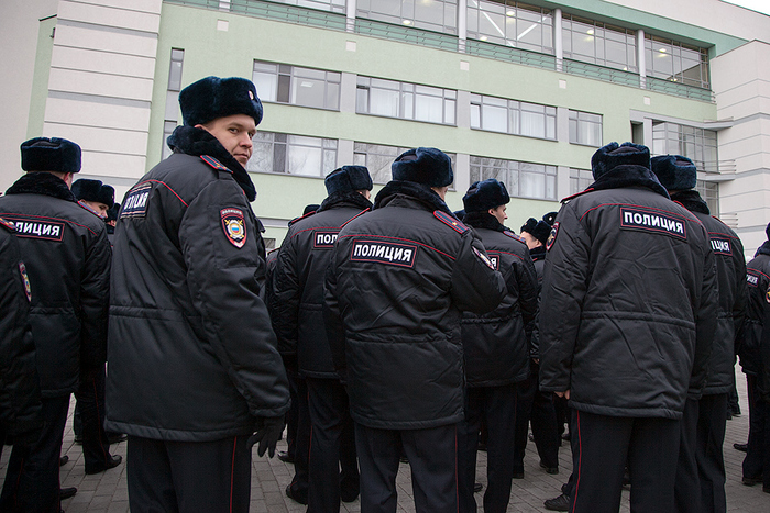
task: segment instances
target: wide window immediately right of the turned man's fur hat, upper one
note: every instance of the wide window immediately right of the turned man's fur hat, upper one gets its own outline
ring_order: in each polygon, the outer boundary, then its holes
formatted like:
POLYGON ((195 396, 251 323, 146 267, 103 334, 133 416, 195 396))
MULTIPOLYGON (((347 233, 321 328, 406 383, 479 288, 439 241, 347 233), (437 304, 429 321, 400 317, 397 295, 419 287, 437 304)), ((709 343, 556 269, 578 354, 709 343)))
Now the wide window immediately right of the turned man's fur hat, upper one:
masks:
POLYGON ((254 60, 252 79, 263 101, 340 110, 341 75, 254 60))

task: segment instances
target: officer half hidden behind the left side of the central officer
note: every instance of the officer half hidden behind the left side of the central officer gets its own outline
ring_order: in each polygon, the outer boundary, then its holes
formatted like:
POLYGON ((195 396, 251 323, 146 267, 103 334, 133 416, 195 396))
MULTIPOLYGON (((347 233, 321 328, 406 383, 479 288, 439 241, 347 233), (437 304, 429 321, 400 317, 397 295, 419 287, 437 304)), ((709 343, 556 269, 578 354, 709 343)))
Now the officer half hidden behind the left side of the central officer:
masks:
MULTIPOLYGON (((324 179, 329 196, 289 227, 274 275, 273 326, 298 356, 308 394, 309 512, 336 512, 359 495, 353 421, 323 325, 323 279, 341 227, 372 208, 372 178, 363 166, 342 166, 324 179), (341 473, 338 471, 341 469, 341 473)), ((298 398, 300 401, 302 398, 298 398)))

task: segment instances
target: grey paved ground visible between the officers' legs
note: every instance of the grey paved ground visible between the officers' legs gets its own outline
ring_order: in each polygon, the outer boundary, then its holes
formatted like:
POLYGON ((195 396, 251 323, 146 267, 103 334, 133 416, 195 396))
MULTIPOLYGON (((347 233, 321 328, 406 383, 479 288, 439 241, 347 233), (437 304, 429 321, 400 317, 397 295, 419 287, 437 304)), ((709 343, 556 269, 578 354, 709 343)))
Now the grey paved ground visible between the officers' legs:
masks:
MULTIPOLYGON (((744 453, 733 448, 734 443, 745 443, 748 436, 748 405, 746 404, 746 379, 738 372, 738 394, 740 408, 744 414, 727 421, 727 435, 725 437, 725 467, 727 472, 727 511, 733 513, 767 513, 770 512, 770 493, 763 493, 761 486, 746 487, 741 484, 741 462, 744 453)), ((62 486, 77 487, 77 494, 63 502, 67 513, 123 513, 129 511, 129 493, 125 482, 125 464, 107 470, 96 476, 86 476, 84 471, 82 450, 75 445, 70 420, 64 434, 64 447, 62 453, 69 456, 69 462, 62 467, 62 486)), ((285 449, 284 442, 278 444, 279 449, 285 449)), ((10 450, 3 450, 0 460, 0 477, 6 475, 6 466, 10 450)), ((125 459, 125 443, 112 446, 112 453, 123 456, 125 459)), ((509 512, 544 512, 542 501, 560 493, 561 483, 566 480, 572 468, 569 445, 562 445, 559 455, 561 471, 557 476, 546 473, 539 467, 539 460, 535 446, 529 443, 525 458, 525 479, 514 480, 510 494, 509 512)), ((480 453, 477 480, 486 484, 486 454, 480 453)), ((305 506, 286 498, 284 490, 292 480, 294 468, 277 458, 258 458, 254 451, 252 472, 251 512, 304 512, 305 506)), ((409 466, 402 464, 398 478, 398 511, 414 512, 411 498, 411 479, 409 466)), ((628 508, 628 491, 623 492, 622 512, 630 511, 628 508)), ((476 495, 481 503, 481 494, 476 495)), ((356 500, 350 504, 342 504, 341 511, 359 512, 360 503, 356 500)))

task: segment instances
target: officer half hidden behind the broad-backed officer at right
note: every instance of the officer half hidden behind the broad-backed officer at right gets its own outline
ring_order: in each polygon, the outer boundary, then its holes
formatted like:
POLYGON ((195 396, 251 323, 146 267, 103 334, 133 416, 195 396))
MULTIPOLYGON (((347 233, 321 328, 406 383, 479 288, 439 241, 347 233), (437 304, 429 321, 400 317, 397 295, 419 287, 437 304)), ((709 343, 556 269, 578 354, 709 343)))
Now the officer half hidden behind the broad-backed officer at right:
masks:
POLYGON ((671 199, 697 218, 708 231, 719 290, 708 378, 703 393, 689 394, 682 419, 676 468, 676 511, 725 512, 725 442, 727 399, 735 376, 735 337, 746 309, 746 260, 738 235, 713 218, 697 193, 697 170, 688 157, 661 155, 652 158, 652 172, 671 199))

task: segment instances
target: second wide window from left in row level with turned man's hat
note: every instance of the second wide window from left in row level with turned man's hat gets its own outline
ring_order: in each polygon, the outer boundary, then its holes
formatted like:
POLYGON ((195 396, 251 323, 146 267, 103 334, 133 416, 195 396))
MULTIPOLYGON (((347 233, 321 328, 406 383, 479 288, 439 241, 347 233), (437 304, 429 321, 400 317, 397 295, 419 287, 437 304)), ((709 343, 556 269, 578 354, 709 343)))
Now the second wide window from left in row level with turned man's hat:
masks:
POLYGON ((355 112, 454 124, 457 98, 452 89, 359 77, 355 112))

